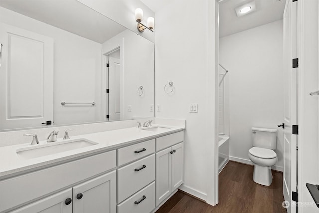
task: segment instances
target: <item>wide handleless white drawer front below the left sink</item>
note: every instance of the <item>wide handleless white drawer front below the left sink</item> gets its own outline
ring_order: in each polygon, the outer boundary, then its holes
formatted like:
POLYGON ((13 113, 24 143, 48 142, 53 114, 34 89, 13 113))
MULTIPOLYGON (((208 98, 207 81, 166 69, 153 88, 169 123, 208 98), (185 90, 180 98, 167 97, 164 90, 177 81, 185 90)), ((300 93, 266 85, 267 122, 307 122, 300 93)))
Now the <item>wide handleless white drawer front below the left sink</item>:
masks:
POLYGON ((0 212, 114 167, 116 167, 115 150, 2 180, 0 212))

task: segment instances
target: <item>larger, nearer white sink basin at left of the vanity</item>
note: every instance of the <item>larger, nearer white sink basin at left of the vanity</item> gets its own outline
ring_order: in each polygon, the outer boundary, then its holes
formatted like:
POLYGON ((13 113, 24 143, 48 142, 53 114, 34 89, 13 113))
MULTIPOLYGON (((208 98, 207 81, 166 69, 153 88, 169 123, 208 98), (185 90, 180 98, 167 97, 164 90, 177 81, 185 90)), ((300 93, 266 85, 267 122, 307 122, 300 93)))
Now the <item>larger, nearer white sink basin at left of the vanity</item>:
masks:
POLYGON ((83 147, 93 146, 98 143, 87 139, 75 139, 65 142, 51 142, 47 144, 37 144, 31 147, 20 148, 16 150, 16 154, 22 159, 31 159, 52 155, 60 152, 75 150, 83 147))

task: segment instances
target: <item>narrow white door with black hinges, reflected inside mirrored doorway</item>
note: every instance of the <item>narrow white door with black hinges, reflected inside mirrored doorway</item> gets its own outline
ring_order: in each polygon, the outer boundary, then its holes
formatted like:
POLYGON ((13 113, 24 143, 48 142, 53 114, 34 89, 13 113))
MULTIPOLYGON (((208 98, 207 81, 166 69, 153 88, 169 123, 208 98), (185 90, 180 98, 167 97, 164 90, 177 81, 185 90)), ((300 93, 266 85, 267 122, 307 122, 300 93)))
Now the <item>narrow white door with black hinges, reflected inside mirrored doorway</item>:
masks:
MULTIPOLYGON (((120 50, 118 50, 120 52, 120 50)), ((109 120, 120 120, 121 116, 121 64, 120 58, 109 56, 109 120)))

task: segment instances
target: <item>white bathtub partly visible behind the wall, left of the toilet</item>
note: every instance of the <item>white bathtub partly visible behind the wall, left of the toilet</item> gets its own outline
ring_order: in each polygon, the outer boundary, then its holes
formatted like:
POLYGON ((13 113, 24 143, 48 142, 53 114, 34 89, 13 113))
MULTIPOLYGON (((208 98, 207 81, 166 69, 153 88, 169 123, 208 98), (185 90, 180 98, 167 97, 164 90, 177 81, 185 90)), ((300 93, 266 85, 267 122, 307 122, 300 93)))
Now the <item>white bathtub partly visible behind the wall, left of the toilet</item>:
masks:
POLYGON ((220 173, 229 159, 229 135, 218 135, 218 139, 218 173, 220 173))

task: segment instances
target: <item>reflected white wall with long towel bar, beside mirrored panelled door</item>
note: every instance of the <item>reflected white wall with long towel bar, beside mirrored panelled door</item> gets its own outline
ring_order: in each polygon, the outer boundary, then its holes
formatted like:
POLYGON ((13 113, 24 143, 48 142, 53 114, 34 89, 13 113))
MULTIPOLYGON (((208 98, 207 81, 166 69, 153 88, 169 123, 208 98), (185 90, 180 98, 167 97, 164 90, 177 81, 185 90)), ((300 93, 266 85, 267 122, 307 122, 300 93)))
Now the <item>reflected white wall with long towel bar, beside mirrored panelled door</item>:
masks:
POLYGON ((54 124, 96 121, 101 103, 97 91, 100 85, 101 44, 3 7, 0 7, 0 13, 1 22, 54 40, 54 124), (97 105, 63 107, 62 101, 95 101, 97 105))

